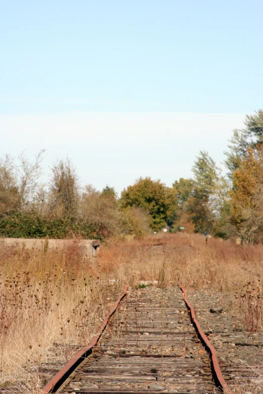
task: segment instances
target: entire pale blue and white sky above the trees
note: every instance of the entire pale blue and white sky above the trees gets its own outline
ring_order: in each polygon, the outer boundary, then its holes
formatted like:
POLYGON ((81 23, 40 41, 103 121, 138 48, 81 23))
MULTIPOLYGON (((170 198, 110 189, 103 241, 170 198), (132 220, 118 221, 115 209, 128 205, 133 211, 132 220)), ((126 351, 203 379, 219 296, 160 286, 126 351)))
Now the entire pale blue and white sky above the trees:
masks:
POLYGON ((0 0, 0 156, 67 155, 83 184, 218 165, 262 108, 263 3, 0 0))

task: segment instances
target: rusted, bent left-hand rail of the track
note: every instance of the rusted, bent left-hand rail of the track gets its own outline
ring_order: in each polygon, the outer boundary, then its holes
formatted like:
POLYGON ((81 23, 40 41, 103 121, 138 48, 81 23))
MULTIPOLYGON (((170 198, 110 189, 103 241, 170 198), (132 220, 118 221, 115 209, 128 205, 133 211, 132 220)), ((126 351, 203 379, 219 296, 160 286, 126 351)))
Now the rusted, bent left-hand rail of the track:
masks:
POLYGON ((64 383, 72 372, 92 353, 92 348, 97 345, 103 331, 105 330, 111 316, 115 313, 120 301, 127 294, 128 285, 125 286, 123 293, 115 302, 113 308, 108 312, 105 320, 100 326, 93 340, 83 349, 81 349, 60 371, 42 388, 41 394, 54 393, 64 383))

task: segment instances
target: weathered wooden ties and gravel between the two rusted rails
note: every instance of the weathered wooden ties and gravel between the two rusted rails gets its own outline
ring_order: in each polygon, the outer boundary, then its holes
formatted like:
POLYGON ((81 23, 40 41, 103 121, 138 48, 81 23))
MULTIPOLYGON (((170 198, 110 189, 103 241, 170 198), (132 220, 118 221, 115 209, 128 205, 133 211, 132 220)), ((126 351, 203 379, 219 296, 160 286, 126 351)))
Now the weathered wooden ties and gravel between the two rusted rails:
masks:
POLYGON ((180 289, 148 287, 121 302, 100 346, 60 392, 217 390, 209 354, 191 325, 180 289))

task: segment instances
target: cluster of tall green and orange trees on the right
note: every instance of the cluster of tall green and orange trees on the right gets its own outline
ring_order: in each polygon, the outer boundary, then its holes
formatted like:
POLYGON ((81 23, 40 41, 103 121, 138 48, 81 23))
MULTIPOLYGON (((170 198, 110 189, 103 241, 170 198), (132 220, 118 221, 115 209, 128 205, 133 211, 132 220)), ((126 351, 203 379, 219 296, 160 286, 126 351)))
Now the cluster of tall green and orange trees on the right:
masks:
POLYGON ((233 130, 225 152, 226 176, 208 152, 201 151, 192 179, 173 184, 178 204, 194 231, 242 243, 263 241, 263 111, 246 115, 233 130))

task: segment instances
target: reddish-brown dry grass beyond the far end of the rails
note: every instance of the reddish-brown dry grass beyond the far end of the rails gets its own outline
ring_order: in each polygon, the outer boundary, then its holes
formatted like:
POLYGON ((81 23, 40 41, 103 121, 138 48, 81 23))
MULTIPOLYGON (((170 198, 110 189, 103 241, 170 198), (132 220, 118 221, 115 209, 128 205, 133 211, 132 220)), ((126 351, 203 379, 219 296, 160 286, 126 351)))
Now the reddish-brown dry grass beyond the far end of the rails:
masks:
POLYGON ((210 238, 206 245, 200 234, 166 234, 141 242, 119 242, 102 249, 102 269, 129 285, 139 280, 159 280, 163 258, 166 259, 167 284, 184 284, 189 289, 211 288, 220 291, 241 291, 247 280, 262 277, 263 246, 235 245, 210 238), (166 242, 162 247, 147 245, 166 242), (148 249, 148 250, 147 250, 148 249))

